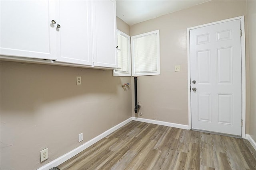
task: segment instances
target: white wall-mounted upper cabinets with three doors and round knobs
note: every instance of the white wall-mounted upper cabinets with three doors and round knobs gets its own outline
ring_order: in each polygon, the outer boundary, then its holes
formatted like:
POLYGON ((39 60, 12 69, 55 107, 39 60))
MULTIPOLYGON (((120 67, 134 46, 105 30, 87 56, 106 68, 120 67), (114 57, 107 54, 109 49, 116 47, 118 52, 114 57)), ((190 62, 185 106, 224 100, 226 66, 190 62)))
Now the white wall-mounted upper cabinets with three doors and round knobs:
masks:
POLYGON ((0 0, 0 9, 2 56, 117 67, 115 1, 0 0))

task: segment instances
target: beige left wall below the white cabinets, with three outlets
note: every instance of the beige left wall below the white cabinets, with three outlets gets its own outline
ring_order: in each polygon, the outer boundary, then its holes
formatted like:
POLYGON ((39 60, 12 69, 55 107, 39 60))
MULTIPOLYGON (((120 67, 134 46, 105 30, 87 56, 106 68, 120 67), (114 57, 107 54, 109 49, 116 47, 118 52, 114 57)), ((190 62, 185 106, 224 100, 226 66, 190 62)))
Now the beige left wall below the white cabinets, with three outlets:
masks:
POLYGON ((130 77, 113 77, 111 70, 0 64, 1 170, 35 170, 132 115, 131 90, 121 87, 130 77), (78 143, 80 133, 84 141, 78 143), (45 148, 49 159, 40 163, 45 148))

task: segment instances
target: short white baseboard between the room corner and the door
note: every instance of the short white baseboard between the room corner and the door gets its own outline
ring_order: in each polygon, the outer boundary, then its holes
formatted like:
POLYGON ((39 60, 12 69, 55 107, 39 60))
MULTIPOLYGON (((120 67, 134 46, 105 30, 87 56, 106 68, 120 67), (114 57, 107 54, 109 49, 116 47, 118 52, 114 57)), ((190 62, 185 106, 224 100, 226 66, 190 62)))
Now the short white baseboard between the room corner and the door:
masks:
POLYGON ((176 128, 180 128, 180 129, 186 129, 188 130, 188 125, 182 125, 182 124, 177 124, 177 123, 170 123, 170 122, 166 122, 166 121, 158 121, 158 120, 152 120, 152 119, 144 119, 144 118, 139 118, 139 117, 132 117, 132 120, 135 121, 141 121, 141 122, 145 122, 145 123, 152 123, 152 124, 156 124, 156 125, 163 125, 163 126, 169 126, 169 127, 176 127, 176 128))

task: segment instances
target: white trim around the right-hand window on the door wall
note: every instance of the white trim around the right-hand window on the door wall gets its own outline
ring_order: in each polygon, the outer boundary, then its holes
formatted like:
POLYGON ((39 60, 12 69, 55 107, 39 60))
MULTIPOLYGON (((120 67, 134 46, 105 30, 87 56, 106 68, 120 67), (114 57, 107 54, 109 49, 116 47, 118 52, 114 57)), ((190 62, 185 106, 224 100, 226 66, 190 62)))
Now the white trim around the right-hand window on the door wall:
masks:
POLYGON ((132 46, 132 76, 151 76, 151 75, 160 75, 160 39, 159 39, 159 29, 156 31, 151 31, 139 35, 134 35, 131 37, 131 46, 132 46), (137 37, 143 37, 146 35, 156 33, 156 45, 157 45, 157 72, 150 72, 150 73, 135 73, 135 63, 134 63, 134 39, 137 37))

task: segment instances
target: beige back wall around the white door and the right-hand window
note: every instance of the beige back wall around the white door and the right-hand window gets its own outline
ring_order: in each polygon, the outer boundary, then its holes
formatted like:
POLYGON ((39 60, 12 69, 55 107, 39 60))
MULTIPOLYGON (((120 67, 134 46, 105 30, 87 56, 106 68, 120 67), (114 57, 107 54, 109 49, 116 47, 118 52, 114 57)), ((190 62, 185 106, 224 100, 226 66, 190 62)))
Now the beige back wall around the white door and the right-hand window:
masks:
MULTIPOLYGON (((130 26, 131 36, 160 30, 161 75, 138 77, 142 118, 188 125, 187 28, 243 15, 246 16, 246 1, 210 1, 130 26), (174 72, 175 65, 181 65, 181 72, 174 72)), ((248 66, 248 57, 246 63, 248 66)), ((250 100, 249 88, 246 90, 250 100)), ((134 98, 133 92, 132 95, 134 98)), ((134 108, 134 100, 132 104, 134 108)), ((137 116, 134 111, 133 116, 137 116)), ((249 119, 247 125, 248 122, 249 119)))

